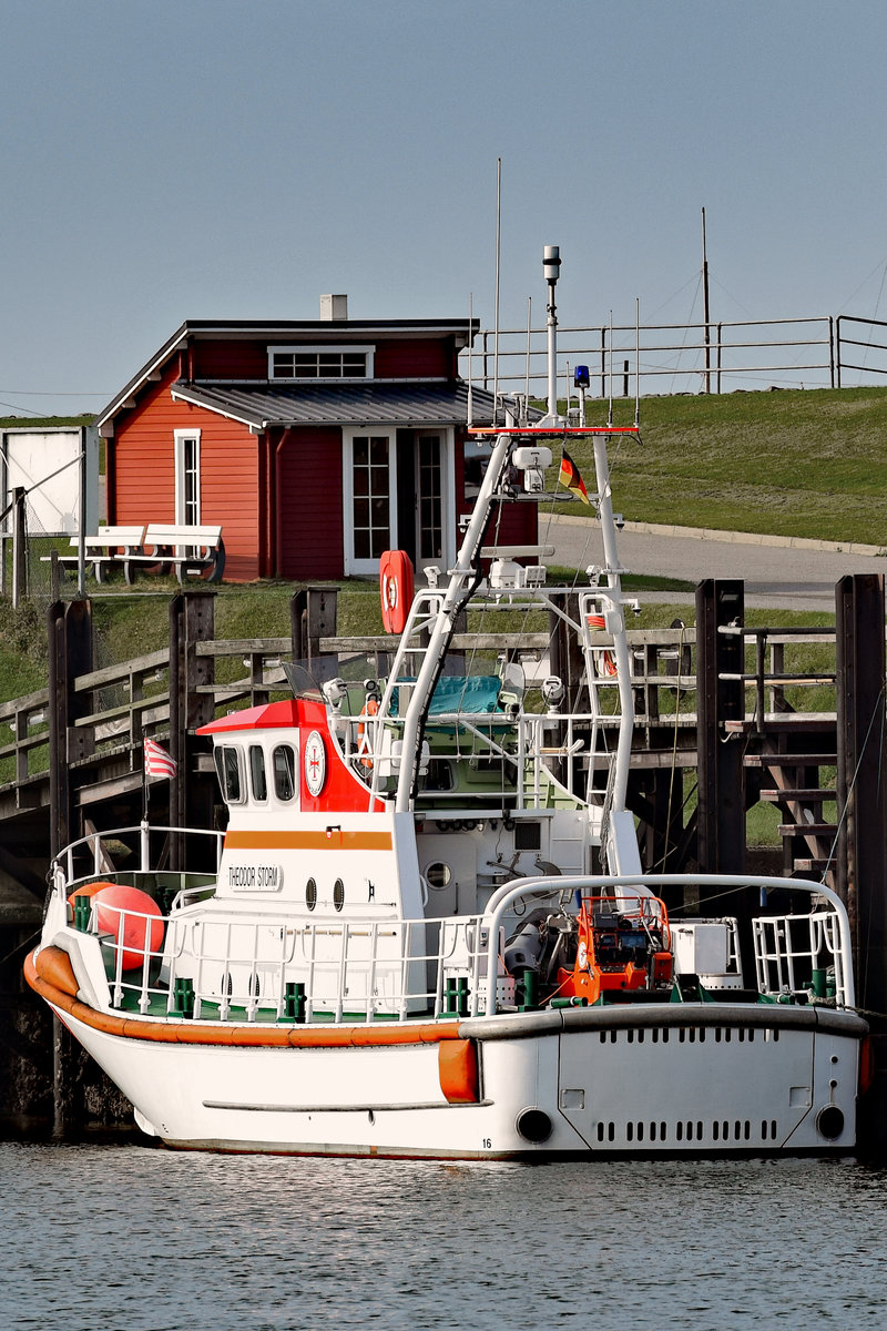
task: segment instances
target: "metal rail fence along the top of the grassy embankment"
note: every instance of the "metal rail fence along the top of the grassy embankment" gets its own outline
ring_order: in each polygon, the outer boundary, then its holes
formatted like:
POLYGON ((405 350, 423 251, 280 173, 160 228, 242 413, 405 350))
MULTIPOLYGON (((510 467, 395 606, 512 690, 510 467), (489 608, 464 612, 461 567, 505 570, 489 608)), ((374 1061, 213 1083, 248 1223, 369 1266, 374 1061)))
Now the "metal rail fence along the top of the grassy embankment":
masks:
MULTIPOLYGON (((618 398, 737 389, 840 389, 883 383, 882 319, 823 314, 717 323, 602 323, 557 330, 559 375, 569 395, 577 365, 590 394, 618 398), (852 379, 852 383, 851 383, 852 379)), ((547 330, 483 329, 460 358, 460 373, 488 390, 544 397, 547 330)))

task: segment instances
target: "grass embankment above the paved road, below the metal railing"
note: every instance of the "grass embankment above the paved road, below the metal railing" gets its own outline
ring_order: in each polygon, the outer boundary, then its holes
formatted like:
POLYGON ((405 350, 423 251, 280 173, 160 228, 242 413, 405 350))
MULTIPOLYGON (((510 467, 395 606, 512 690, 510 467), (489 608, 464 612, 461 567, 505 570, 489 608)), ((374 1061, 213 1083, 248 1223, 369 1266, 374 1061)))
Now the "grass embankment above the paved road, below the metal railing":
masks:
MULTIPOLYGON (((602 425, 606 405, 588 419, 602 425)), ((633 419, 633 401, 614 402, 616 425, 633 419)), ((886 389, 645 398, 641 438, 610 451, 630 522, 887 546, 886 389)), ((590 443, 570 454, 590 490, 590 443)))

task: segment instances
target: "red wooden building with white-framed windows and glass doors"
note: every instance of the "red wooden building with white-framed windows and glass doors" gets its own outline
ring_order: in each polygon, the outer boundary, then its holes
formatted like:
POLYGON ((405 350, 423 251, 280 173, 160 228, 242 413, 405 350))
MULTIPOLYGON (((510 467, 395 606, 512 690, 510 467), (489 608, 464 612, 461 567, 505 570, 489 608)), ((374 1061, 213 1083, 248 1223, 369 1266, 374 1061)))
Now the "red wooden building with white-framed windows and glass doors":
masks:
MULTIPOLYGON (((222 524, 225 576, 375 575, 406 550, 451 567, 484 445, 467 433, 468 319, 189 319, 98 419, 108 522, 222 524)), ((473 390, 472 419, 492 397, 473 390)), ((507 504, 501 542, 533 542, 507 504)))

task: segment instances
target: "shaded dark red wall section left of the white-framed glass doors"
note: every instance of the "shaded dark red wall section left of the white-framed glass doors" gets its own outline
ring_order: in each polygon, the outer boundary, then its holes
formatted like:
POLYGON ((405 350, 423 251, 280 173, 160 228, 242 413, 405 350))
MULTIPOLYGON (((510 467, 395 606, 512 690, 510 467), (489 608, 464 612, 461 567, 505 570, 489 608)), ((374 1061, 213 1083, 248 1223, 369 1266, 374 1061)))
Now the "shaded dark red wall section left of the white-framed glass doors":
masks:
POLYGON ((293 430, 279 453, 281 576, 342 578, 342 431, 293 430))

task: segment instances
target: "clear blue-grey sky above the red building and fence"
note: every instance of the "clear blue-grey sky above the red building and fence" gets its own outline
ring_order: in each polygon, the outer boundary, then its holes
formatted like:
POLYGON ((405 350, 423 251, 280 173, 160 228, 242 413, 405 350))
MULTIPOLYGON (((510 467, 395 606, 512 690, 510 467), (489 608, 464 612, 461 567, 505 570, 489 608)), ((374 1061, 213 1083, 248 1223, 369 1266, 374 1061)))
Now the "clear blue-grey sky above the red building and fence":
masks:
POLYGON ((185 318, 887 318, 883 0, 0 0, 0 411, 185 318))

